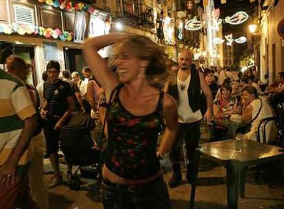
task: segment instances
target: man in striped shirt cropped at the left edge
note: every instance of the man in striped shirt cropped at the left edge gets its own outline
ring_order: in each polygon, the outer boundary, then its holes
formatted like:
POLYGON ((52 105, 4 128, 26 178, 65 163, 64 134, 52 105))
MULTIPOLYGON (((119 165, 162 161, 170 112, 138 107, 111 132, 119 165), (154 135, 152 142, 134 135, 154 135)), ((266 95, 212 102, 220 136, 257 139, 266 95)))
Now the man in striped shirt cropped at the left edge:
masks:
POLYGON ((29 195, 35 109, 25 85, 0 69, 0 207, 37 208, 29 195))

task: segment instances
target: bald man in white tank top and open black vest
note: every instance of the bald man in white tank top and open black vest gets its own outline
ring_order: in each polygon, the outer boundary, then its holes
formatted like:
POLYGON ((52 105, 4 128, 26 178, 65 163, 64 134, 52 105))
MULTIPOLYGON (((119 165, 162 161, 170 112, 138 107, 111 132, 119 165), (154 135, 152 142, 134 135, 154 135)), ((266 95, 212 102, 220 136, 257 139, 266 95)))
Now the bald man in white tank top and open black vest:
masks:
POLYGON ((189 172, 194 166, 193 156, 195 148, 200 140, 200 111, 201 91, 206 97, 207 110, 204 118, 210 122, 212 119, 213 98, 211 90, 206 85, 204 76, 192 65, 192 53, 182 50, 179 58, 180 69, 178 70, 177 83, 169 87, 168 93, 178 103, 178 123, 180 129, 176 142, 171 150, 171 163, 173 165, 173 176, 169 180, 169 187, 176 187, 182 180, 180 173, 180 153, 182 144, 185 142, 187 150, 187 180, 190 180, 189 172))

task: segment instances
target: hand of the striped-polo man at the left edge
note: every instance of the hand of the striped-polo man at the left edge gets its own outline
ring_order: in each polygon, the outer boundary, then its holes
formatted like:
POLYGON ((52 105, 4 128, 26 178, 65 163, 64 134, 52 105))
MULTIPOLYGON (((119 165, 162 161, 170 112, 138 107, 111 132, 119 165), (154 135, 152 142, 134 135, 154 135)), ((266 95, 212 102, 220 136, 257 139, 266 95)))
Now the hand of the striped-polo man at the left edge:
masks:
POLYGON ((16 166, 17 164, 6 161, 2 166, 0 166, 0 185, 8 186, 15 182, 16 176, 16 166))

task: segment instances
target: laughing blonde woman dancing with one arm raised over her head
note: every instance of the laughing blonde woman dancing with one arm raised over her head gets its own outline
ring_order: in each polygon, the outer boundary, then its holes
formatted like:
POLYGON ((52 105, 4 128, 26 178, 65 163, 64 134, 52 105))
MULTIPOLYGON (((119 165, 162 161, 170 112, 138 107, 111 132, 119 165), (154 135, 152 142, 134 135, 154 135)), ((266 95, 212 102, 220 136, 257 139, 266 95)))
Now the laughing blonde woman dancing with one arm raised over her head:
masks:
POLYGON ((86 41, 84 56, 106 90, 107 100, 113 92, 102 168, 104 208, 171 208, 159 156, 169 151, 174 142, 176 103, 150 85, 157 76, 167 74, 165 52, 144 36, 109 34, 86 41), (112 44, 118 76, 97 53, 112 44), (167 126, 156 152, 162 120, 167 126))

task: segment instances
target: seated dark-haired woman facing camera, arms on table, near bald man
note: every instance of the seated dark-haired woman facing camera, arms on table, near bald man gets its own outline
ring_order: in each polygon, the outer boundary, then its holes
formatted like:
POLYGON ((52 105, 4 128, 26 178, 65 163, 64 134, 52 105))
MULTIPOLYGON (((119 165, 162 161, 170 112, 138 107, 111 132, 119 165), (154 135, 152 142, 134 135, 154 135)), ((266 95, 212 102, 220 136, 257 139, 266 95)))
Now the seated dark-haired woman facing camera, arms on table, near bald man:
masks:
POLYGON ((231 96, 232 87, 227 84, 221 86, 220 94, 213 102, 213 115, 214 118, 228 118, 237 111, 237 99, 231 96))

